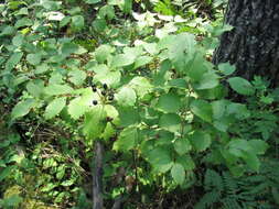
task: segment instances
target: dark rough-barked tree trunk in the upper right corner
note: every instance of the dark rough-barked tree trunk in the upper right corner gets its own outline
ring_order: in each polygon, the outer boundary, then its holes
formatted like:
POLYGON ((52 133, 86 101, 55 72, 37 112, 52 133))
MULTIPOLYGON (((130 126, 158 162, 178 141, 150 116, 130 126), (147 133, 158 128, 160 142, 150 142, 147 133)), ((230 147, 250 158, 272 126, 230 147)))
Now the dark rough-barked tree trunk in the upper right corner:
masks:
POLYGON ((279 84, 279 1, 229 0, 225 22, 234 26, 221 36, 214 64, 235 64, 237 75, 266 76, 279 84))

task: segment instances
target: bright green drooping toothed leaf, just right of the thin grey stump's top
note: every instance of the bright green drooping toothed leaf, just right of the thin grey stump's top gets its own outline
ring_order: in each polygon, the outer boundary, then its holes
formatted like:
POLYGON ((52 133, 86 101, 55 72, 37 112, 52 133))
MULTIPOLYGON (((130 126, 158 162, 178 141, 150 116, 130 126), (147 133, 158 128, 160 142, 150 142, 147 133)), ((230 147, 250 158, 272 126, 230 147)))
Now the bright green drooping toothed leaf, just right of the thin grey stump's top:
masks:
POLYGON ((137 139, 138 139, 137 128, 136 127, 126 128, 124 131, 121 131, 119 138, 114 143, 112 150, 127 152, 135 147, 137 139))

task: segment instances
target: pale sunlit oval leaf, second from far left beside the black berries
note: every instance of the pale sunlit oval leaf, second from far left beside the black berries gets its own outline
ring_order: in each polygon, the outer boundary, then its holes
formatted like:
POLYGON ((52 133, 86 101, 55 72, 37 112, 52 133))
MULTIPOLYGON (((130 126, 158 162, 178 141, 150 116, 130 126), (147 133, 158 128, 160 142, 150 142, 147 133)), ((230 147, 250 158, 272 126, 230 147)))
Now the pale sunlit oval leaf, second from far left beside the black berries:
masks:
POLYGON ((54 99, 46 107, 44 117, 46 119, 52 119, 53 117, 57 116, 62 111, 65 105, 66 105, 66 98, 62 97, 62 98, 54 99))

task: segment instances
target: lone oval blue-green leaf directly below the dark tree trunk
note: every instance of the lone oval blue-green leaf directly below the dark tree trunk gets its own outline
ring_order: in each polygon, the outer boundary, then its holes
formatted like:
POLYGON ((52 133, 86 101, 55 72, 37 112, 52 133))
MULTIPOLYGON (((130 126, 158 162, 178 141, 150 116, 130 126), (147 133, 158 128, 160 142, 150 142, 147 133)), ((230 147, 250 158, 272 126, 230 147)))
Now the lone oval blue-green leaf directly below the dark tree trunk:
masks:
POLYGON ((232 89, 234 89, 239 95, 251 96, 255 94, 255 89, 251 84, 242 77, 233 77, 227 81, 232 89))

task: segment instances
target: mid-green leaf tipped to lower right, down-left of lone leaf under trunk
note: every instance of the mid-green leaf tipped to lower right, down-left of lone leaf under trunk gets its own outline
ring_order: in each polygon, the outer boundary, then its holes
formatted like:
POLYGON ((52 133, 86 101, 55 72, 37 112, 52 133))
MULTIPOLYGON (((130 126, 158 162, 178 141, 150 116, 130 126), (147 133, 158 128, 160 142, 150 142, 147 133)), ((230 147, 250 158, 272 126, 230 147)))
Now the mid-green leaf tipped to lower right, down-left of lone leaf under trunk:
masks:
POLYGON ((190 105, 191 111, 206 122, 212 122, 212 106, 205 100, 196 99, 190 105))

